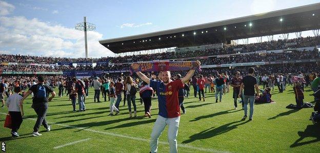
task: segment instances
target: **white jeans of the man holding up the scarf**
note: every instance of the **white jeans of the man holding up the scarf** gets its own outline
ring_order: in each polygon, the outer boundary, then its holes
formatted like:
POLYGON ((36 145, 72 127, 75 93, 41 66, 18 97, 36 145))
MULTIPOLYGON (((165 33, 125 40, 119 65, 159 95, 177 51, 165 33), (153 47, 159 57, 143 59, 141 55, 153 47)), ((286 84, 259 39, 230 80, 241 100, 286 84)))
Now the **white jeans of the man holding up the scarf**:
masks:
POLYGON ((177 141, 176 137, 178 135, 180 116, 175 118, 164 118, 158 115, 152 129, 151 139, 150 139, 150 149, 151 152, 157 152, 158 138, 161 133, 165 130, 166 125, 168 125, 168 141, 170 147, 170 153, 177 152, 177 141))

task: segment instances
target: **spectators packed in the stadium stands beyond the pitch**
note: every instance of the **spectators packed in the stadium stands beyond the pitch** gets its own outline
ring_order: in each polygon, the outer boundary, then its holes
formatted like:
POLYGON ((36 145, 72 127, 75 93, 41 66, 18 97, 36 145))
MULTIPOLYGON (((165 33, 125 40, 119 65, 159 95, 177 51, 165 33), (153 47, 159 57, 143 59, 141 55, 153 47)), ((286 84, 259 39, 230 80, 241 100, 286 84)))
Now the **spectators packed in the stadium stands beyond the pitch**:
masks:
POLYGON ((232 63, 247 63, 247 62, 271 62, 271 61, 290 61, 302 59, 315 59, 319 57, 319 51, 315 47, 320 44, 320 37, 306 37, 289 40, 277 40, 253 44, 241 44, 224 46, 219 49, 204 49, 192 50, 187 52, 165 52, 156 53, 152 56, 145 55, 132 55, 124 57, 105 57, 96 59, 83 59, 83 58, 53 58, 53 57, 37 57, 37 56, 22 56, 22 55, 0 55, 2 63, 12 62, 18 65, 4 65, 0 64, 0 71, 24 71, 24 72, 37 72, 37 71, 68 71, 68 70, 128 70, 129 63, 137 61, 152 61, 152 60, 172 60, 189 58, 184 60, 194 60, 192 58, 201 56, 216 56, 216 55, 231 55, 227 57, 208 57, 201 59, 202 65, 216 65, 216 64, 232 64, 232 63), (298 47, 314 47, 313 49, 296 50, 298 47), (237 48, 235 50, 235 48, 237 48), (240 48, 240 50, 238 50, 240 48), (252 53, 258 50, 278 50, 278 49, 292 49, 284 53, 252 53), (93 66, 90 63, 106 62, 93 66), (70 65, 55 65, 56 63, 89 63, 88 65, 78 64, 77 66, 70 65), (37 63, 39 65, 29 65, 37 63), (42 65, 47 64, 47 65, 42 65), (49 65, 51 64, 51 65, 49 65), (113 65, 114 64, 114 65, 113 65))

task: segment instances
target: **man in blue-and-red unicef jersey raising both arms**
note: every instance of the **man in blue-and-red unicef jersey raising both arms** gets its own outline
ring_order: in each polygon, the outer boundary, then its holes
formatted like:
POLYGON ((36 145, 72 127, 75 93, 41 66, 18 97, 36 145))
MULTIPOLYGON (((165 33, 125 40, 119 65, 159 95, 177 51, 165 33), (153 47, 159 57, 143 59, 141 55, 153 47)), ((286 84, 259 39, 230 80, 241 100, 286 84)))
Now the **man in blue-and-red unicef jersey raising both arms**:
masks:
MULTIPOLYGON (((200 62, 196 61, 199 66, 200 62)), ((157 152, 158 138, 168 125, 168 141, 169 152, 177 152, 178 127, 180 121, 180 106, 178 100, 178 91, 184 87, 194 73, 194 69, 189 70, 184 78, 181 80, 172 81, 170 71, 162 71, 160 76, 162 81, 150 80, 142 72, 136 72, 139 78, 144 82, 150 84, 150 87, 156 89, 158 95, 159 115, 154 123, 151 139, 150 149, 151 152, 157 152)))

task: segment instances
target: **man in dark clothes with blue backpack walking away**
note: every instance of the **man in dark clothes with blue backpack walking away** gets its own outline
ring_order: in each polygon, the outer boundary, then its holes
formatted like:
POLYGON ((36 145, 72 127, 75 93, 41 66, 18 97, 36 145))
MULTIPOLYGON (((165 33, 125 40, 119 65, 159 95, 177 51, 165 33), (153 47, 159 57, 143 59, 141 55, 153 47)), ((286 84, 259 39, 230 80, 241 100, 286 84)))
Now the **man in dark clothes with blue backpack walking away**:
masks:
POLYGON ((23 101, 31 93, 33 93, 34 97, 32 99, 32 106, 33 106, 32 108, 37 114, 37 120, 33 127, 33 133, 32 133, 33 136, 42 135, 42 134, 39 134, 39 127, 41 124, 44 125, 47 132, 51 130, 50 126, 46 121, 46 114, 48 109, 48 102, 54 98, 55 92, 53 91, 52 87, 44 83, 45 83, 45 77, 43 75, 40 75, 38 77, 38 84, 31 86, 29 91, 25 93, 24 97, 20 101, 20 104, 23 104, 23 101), (51 93, 51 97, 49 97, 49 93, 51 93))

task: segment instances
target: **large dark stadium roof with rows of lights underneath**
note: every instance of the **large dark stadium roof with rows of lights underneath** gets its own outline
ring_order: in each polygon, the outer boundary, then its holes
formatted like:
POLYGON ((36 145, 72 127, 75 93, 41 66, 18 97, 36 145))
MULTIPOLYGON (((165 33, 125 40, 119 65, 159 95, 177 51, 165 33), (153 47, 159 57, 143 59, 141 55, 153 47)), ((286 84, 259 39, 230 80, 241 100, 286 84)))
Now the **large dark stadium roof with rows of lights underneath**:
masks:
POLYGON ((320 29, 320 3, 128 37, 100 40, 113 53, 226 43, 320 29))

